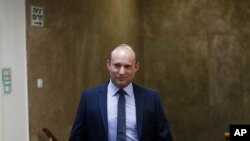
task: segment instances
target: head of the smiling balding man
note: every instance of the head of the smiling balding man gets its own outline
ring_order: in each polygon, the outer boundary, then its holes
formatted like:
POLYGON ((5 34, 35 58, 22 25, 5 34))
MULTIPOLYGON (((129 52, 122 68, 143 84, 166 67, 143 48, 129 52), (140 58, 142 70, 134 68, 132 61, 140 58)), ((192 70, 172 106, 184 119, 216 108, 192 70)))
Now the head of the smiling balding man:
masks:
POLYGON ((119 45, 110 53, 107 68, 113 84, 120 89, 126 87, 139 68, 134 50, 127 44, 119 45))

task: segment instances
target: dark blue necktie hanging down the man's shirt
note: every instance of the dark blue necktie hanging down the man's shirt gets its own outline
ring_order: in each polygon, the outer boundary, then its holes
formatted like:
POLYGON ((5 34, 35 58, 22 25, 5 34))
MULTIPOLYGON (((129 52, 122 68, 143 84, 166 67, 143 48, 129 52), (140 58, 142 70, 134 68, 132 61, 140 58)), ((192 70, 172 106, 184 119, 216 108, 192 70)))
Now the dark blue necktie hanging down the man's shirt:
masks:
POLYGON ((125 110, 125 94, 126 92, 120 89, 120 94, 117 107, 117 141, 126 141, 126 110, 125 110))

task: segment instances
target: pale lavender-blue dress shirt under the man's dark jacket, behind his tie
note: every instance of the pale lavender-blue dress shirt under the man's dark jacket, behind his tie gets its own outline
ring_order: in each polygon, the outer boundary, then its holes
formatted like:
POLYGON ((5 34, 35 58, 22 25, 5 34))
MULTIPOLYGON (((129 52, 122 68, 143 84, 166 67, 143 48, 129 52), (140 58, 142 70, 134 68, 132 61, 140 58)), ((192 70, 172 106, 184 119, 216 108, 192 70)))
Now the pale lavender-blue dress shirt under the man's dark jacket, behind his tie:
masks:
MULTIPOLYGON (((107 111, 108 111, 108 140, 116 141, 117 135, 117 105, 119 89, 109 81, 107 91, 107 111)), ((136 126, 136 108, 133 85, 130 83, 123 89, 126 101, 126 141, 138 141, 138 131, 136 126)))

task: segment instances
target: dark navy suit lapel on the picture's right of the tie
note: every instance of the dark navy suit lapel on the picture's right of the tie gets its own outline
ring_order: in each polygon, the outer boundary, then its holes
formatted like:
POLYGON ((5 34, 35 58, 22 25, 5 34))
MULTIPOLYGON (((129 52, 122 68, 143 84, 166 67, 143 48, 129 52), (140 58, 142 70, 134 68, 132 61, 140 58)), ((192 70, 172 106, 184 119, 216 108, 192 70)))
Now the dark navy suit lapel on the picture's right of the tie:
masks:
POLYGON ((136 123, 137 123, 137 130, 139 140, 141 138, 142 132, 142 122, 143 122, 143 109, 144 109, 144 94, 142 89, 133 84, 134 95, 135 95, 135 106, 136 106, 136 123))

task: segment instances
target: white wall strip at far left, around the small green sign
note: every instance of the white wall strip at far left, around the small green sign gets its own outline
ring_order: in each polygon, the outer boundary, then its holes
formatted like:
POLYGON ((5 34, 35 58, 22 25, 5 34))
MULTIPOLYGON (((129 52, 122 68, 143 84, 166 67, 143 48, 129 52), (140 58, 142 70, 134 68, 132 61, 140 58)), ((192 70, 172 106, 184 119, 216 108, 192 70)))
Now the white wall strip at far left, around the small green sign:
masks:
POLYGON ((1 80, 0 141, 29 140, 25 19, 25 0, 0 0, 0 68, 11 69, 12 88, 3 94, 1 80))

